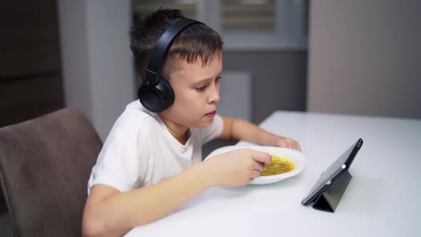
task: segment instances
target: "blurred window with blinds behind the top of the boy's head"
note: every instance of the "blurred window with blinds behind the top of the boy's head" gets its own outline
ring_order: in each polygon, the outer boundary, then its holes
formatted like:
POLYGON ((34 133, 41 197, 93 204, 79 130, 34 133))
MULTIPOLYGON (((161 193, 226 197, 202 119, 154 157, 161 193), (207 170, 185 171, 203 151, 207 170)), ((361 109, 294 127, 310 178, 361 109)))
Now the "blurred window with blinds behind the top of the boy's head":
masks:
POLYGON ((308 0, 133 0, 135 21, 181 9, 223 37, 225 50, 306 49, 308 0))

